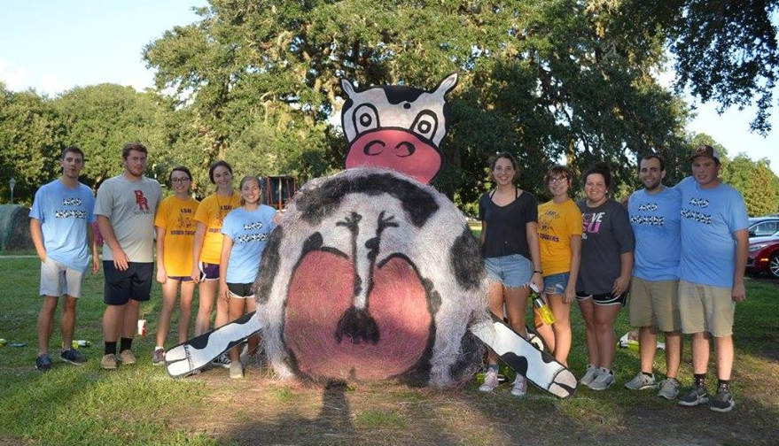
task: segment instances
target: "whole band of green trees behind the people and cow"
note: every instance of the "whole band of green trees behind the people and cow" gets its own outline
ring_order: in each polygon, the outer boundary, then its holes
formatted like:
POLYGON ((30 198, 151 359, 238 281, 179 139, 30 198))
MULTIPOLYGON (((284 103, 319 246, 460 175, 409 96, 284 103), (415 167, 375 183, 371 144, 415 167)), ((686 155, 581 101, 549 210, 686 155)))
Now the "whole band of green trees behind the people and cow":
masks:
POLYGON ((19 172, 30 185, 19 192, 29 195, 57 176, 56 154, 76 143, 97 185, 121 170, 121 145, 140 141, 150 146, 152 176, 188 165, 201 195, 207 165, 221 158, 238 175, 305 181, 342 168, 340 79, 432 88, 456 72, 447 163, 435 186, 464 211, 490 187, 487 158, 504 150, 520 161, 520 186, 541 199, 551 165, 580 173, 606 161, 618 190, 629 190, 638 186, 637 159, 653 151, 673 183, 689 173, 687 154, 704 137, 684 131, 681 89, 722 107, 755 100, 752 127, 767 131, 777 4, 210 0, 195 23, 144 47, 156 91, 104 84, 49 98, 0 84, 0 174, 19 172), (668 49, 676 92, 655 76, 668 49))

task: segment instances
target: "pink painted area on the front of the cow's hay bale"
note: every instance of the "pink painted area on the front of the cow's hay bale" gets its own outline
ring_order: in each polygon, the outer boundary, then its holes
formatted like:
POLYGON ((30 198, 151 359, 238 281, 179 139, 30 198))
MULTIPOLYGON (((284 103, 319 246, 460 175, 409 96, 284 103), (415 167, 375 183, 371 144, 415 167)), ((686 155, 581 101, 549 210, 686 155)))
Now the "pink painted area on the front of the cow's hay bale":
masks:
MULTIPOLYGON (((425 352, 432 318, 425 288, 402 258, 373 276, 368 310, 376 320, 376 344, 336 340, 341 315, 353 304, 352 261, 324 251, 308 253, 290 283, 284 338, 300 372, 312 377, 383 380, 408 371, 425 352)), ((366 284, 367 285, 367 284, 366 284)))

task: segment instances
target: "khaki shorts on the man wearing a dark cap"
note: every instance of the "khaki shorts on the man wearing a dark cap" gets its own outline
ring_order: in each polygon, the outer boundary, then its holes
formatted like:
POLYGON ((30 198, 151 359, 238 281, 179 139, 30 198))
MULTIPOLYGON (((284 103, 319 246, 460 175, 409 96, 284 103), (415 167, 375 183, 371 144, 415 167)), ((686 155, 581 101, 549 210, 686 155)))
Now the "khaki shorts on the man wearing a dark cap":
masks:
POLYGON ((679 313, 684 334, 709 332, 714 337, 733 334, 736 302, 730 288, 679 281, 679 313))

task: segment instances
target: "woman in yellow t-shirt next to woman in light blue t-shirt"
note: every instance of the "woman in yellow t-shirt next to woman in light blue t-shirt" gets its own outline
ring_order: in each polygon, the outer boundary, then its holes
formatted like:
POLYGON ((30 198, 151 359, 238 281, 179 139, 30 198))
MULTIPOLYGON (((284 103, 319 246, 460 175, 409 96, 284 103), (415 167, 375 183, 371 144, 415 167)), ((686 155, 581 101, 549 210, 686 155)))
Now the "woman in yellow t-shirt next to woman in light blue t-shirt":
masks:
MULTIPOLYGON (((208 168, 208 178, 216 185, 216 192, 206 196, 195 213, 195 241, 192 244, 192 279, 199 285, 198 316, 195 335, 208 331, 211 310, 219 287, 219 258, 222 255, 222 221, 228 212, 241 205, 241 197, 233 190, 232 167, 226 161, 216 161, 208 168)), ((222 327, 230 319, 227 302, 216 303, 215 327, 222 327)), ((226 365, 229 366, 229 365, 226 365)))

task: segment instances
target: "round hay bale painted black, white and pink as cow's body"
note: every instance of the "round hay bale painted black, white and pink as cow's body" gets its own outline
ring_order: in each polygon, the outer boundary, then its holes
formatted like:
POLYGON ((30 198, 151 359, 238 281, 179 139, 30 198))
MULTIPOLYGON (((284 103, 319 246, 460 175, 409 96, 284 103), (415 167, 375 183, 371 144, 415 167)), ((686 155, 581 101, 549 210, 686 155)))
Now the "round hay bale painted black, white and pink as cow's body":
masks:
POLYGON ((254 284, 282 377, 450 385, 471 376, 487 319, 479 243, 446 196, 380 168, 310 181, 254 284))

